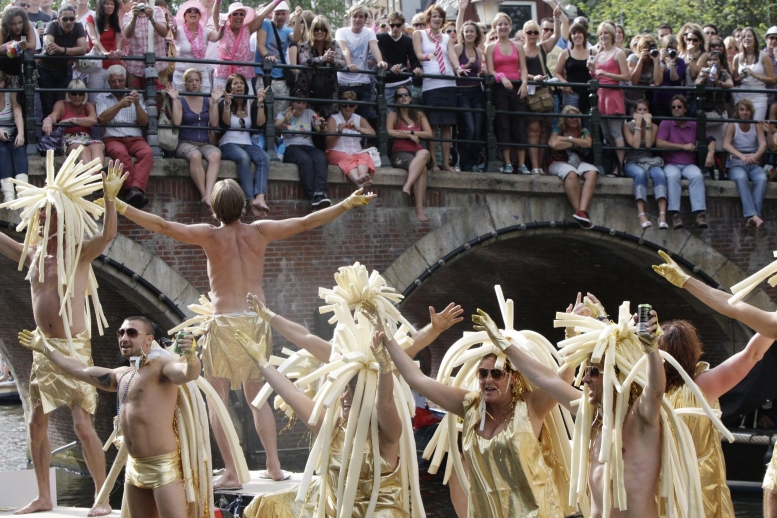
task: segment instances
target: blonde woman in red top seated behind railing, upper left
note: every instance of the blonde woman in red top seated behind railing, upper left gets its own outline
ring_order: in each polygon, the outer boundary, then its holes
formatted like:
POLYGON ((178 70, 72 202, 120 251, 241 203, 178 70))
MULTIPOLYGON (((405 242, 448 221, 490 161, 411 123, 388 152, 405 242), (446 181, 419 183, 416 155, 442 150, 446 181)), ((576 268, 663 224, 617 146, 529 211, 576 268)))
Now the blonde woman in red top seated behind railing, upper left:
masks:
POLYGON ((94 104, 86 100, 86 84, 73 79, 68 85, 65 99, 54 104, 52 112, 43 119, 44 135, 51 135, 54 124, 67 124, 64 129, 65 155, 83 146, 78 159, 88 164, 94 159, 105 161, 105 145, 92 136, 92 126, 97 124, 97 111, 94 104))

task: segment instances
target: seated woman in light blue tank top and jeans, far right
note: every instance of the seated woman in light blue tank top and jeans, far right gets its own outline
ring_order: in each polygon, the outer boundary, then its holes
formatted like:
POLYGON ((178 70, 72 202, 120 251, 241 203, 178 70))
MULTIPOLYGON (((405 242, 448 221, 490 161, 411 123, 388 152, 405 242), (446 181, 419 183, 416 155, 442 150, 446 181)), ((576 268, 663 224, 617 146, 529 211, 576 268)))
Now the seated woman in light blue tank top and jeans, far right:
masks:
POLYGON ((728 178, 737 184, 739 199, 747 219, 748 227, 760 227, 764 196, 766 195, 766 173, 761 167, 761 157, 766 152, 766 137, 768 127, 764 122, 755 124, 753 119, 755 108, 750 99, 740 99, 734 106, 735 122, 726 128, 723 139, 723 149, 728 151, 728 178), (753 190, 750 190, 753 182, 753 190))

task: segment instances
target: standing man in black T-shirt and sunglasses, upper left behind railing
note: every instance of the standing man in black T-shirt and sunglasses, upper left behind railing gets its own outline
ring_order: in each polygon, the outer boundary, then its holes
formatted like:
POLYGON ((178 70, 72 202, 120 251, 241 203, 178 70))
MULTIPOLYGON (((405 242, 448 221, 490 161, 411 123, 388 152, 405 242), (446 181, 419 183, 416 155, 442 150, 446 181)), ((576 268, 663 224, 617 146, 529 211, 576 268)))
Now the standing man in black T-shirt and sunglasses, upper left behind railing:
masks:
MULTIPOLYGON (((76 23, 76 10, 70 4, 59 8, 59 18, 49 22, 43 36, 44 53, 49 56, 82 56, 87 52, 86 31, 76 23)), ((73 79, 71 61, 41 59, 38 61, 38 86, 62 88, 61 92, 40 92, 43 114, 51 113, 54 103, 65 98, 65 89, 73 79)))

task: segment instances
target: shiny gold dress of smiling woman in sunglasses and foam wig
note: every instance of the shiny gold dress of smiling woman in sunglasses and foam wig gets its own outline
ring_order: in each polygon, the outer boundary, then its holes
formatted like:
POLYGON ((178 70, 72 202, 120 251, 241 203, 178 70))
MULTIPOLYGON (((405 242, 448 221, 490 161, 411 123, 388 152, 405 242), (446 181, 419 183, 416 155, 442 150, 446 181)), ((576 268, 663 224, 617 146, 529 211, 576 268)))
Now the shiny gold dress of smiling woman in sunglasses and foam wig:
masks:
POLYGON ((491 439, 477 433, 479 403, 480 392, 464 398, 462 451, 471 485, 467 518, 563 518, 554 470, 543 451, 549 437, 535 437, 526 402, 516 402, 513 418, 491 439))

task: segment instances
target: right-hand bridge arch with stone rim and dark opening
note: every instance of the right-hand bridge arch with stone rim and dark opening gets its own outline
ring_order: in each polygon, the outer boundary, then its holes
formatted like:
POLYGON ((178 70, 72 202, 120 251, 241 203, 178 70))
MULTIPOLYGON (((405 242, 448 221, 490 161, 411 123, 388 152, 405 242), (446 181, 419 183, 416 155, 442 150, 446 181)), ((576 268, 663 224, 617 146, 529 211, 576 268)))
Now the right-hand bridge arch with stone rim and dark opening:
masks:
MULTIPOLYGON (((555 311, 563 311, 578 291, 591 291, 611 314, 629 300, 632 310, 651 303, 664 318, 693 321, 713 364, 747 343, 749 329, 672 287, 650 267, 660 262, 657 250, 664 249, 710 285, 729 287, 746 277, 712 246, 685 230, 661 231, 656 225, 643 231, 631 207, 615 204, 600 213, 600 226, 584 231, 565 222, 566 207, 559 213, 555 205, 489 199, 418 240, 384 270, 406 297, 403 314, 422 325, 429 305, 439 310, 456 301, 464 306, 466 320, 478 307, 498 315, 493 286, 500 284, 505 297, 514 299, 516 328, 534 329, 557 341, 563 333, 552 327, 555 311)), ((776 307, 760 290, 748 302, 767 310, 776 307)), ((469 325, 452 328, 432 346, 433 370, 469 325)))

